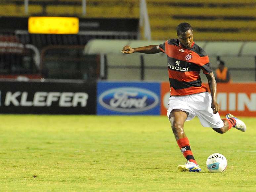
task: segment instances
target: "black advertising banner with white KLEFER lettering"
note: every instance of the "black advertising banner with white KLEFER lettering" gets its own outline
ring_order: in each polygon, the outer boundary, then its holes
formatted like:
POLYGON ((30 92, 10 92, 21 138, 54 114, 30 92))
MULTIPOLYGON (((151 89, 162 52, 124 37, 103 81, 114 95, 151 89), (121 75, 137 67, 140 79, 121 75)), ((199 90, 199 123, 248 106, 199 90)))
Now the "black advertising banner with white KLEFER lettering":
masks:
POLYGON ((0 113, 96 114, 96 83, 0 81, 0 113))

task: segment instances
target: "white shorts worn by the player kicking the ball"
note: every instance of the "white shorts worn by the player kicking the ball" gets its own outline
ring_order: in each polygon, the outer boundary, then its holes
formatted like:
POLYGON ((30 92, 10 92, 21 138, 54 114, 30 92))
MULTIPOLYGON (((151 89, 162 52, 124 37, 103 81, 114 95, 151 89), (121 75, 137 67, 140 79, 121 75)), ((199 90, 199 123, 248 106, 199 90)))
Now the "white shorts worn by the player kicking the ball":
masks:
POLYGON ((219 113, 213 114, 211 100, 212 97, 208 92, 188 96, 171 96, 167 116, 169 118, 173 109, 180 109, 189 113, 186 121, 197 116, 203 127, 222 128, 224 123, 219 113))

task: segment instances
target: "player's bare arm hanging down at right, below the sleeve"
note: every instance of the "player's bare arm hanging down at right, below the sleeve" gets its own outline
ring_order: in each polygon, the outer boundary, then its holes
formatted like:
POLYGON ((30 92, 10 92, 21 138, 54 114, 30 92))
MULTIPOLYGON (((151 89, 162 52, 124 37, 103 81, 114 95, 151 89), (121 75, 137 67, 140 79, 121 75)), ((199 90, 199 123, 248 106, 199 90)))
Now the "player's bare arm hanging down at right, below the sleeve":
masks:
POLYGON ((216 114, 220 110, 220 105, 217 103, 217 83, 215 81, 215 77, 213 72, 209 74, 205 74, 208 79, 209 88, 212 95, 212 104, 211 108, 213 110, 213 113, 216 114))

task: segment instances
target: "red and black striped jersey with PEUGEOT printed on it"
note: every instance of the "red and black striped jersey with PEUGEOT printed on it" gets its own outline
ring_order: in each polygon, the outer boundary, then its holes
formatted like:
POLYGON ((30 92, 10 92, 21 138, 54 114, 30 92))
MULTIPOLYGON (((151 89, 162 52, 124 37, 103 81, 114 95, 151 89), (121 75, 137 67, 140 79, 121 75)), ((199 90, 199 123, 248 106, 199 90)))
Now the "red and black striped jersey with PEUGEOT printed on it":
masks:
POLYGON ((183 48, 179 39, 169 39, 159 45, 167 55, 171 96, 184 96, 208 92, 202 85, 200 70, 204 74, 212 72, 209 58, 195 43, 190 49, 183 48))

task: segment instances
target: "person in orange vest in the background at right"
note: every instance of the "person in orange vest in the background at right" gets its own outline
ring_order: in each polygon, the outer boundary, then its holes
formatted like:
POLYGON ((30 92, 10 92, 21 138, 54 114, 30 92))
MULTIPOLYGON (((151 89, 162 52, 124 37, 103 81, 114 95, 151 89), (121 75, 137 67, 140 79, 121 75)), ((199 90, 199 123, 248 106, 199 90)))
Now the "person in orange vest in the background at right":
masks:
POLYGON ((225 67, 225 62, 218 60, 219 66, 215 70, 215 79, 217 83, 230 83, 230 72, 227 67, 225 67))

